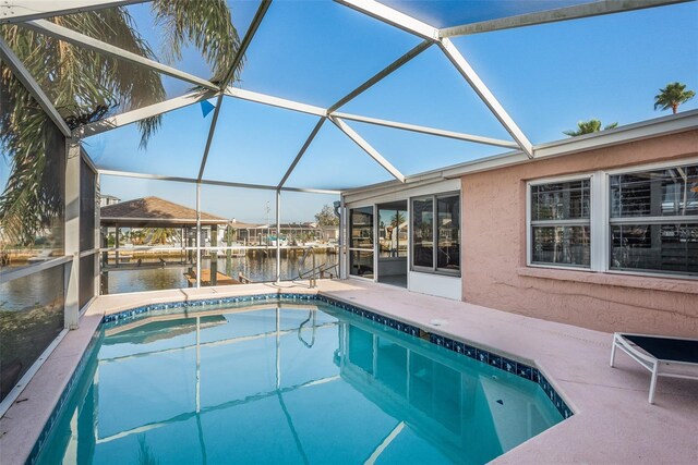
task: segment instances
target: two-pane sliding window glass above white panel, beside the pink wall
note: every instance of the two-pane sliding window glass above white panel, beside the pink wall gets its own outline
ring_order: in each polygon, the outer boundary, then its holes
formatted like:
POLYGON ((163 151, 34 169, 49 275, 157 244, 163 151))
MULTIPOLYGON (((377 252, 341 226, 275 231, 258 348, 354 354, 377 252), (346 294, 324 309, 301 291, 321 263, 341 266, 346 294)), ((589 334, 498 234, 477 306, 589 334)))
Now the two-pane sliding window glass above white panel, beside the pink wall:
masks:
POLYGON ((460 272, 460 197, 412 199, 412 269, 460 272))

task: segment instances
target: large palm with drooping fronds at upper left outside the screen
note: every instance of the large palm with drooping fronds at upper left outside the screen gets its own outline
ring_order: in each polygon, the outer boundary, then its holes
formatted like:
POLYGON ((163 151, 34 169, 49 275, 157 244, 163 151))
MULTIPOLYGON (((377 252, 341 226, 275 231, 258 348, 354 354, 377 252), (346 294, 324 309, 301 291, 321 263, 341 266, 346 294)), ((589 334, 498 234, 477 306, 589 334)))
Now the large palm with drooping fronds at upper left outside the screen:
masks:
MULTIPOLYGON (((196 47, 212 68, 212 82, 229 74, 240 47, 226 0, 154 0, 154 17, 164 30, 168 59, 181 59, 183 47, 196 47)), ((155 58, 124 8, 53 17, 64 27, 155 58)), ((129 111, 166 98, 160 74, 125 61, 71 46, 21 25, 3 26, 0 37, 12 48, 71 129, 115 111, 129 111)), ((232 78, 239 74, 239 69, 232 78)), ((62 137, 26 88, 0 62, 0 147, 10 176, 0 197, 0 223, 16 243, 31 244, 62 210, 62 137), (58 149, 58 151, 62 151, 58 149), (47 156, 52 152, 52 156, 47 156)), ((157 131, 160 118, 137 123, 141 145, 157 131)))

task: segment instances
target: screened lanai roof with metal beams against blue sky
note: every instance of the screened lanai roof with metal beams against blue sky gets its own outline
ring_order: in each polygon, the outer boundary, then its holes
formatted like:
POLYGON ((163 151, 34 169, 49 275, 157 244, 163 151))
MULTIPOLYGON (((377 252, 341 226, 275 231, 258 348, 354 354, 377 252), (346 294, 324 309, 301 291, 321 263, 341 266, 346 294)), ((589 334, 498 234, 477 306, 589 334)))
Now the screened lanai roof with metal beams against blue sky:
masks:
POLYGON ((404 182, 512 150, 534 157, 579 120, 647 120, 667 82, 698 85, 695 2, 2 8, 3 61, 117 175, 323 193, 404 182))

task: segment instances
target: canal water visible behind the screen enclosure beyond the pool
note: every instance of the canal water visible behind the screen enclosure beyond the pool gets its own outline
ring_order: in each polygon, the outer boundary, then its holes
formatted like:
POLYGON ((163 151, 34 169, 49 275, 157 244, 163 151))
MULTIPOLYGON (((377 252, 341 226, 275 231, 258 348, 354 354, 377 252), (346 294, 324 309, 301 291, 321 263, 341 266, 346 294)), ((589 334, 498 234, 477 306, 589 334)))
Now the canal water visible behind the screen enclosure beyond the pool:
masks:
MULTIPOLYGON (((337 264, 339 256, 337 254, 315 254, 315 265, 326 264, 332 266, 337 264)), ((291 255, 290 257, 281 257, 281 280, 290 281, 299 276, 301 255, 291 255)), ((305 258, 302 269, 309 271, 312 268, 313 257, 309 255, 305 258)), ((189 271, 190 266, 173 267, 168 265, 166 268, 148 268, 142 270, 111 270, 107 278, 105 294, 121 294, 125 292, 156 291, 164 289, 182 289, 189 285, 184 273, 189 271)), ((210 268, 210 259, 202 260, 202 269, 210 268)), ((255 256, 232 257, 230 268, 226 269, 226 258, 218 258, 218 272, 226 273, 231 278, 238 278, 238 273, 242 272, 253 282, 268 282, 276 280, 276 256, 269 254, 264 256, 257 254, 255 256)), ((336 270, 333 270, 336 273, 336 270)))

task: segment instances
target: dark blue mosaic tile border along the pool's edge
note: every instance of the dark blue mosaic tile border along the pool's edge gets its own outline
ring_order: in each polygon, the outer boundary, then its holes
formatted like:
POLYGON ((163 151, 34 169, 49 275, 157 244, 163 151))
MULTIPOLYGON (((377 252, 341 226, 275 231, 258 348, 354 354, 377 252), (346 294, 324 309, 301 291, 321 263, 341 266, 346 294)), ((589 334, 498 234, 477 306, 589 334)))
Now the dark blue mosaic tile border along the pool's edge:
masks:
MULTIPOLYGON (((400 320, 396 320, 394 318, 386 317, 384 315, 376 314, 375 311, 366 310, 365 308, 361 308, 353 304, 348 304, 346 302, 328 297, 323 294, 298 294, 298 293, 277 293, 277 294, 254 294, 254 295, 242 295, 236 297, 220 297, 220 298, 205 298, 197 301, 188 301, 188 302, 171 302, 164 304, 151 304, 143 305, 140 307, 131 308, 128 310, 117 311, 115 314, 105 315, 101 320, 101 325, 110 323, 110 322, 128 322, 133 320, 134 318, 140 317, 143 314, 147 314, 149 311, 167 311, 167 310, 178 310, 183 307, 204 307, 210 305, 225 305, 225 304, 238 304, 238 303, 253 303, 253 302, 265 302, 265 301, 300 301, 300 302, 312 302, 320 301, 326 304, 332 304, 336 307, 339 307, 346 311, 349 311, 359 317, 369 319, 371 321, 375 321, 376 323, 387 326, 395 330, 401 331, 406 334, 410 334, 417 338, 428 336, 429 342, 432 344, 444 347, 448 351, 453 351, 455 353, 465 355, 474 360, 484 363, 494 368, 507 371, 512 375, 516 375, 520 378, 527 379, 529 381, 535 382, 545 393, 547 399, 553 403, 553 406, 559 412, 563 419, 567 419, 574 415, 574 412, 569 406, 565 403, 563 397, 555 391, 550 381, 543 376, 543 374, 535 367, 532 367, 522 362, 516 362, 514 359, 507 358, 503 355, 496 354, 494 352, 489 352, 483 348, 469 345, 465 342, 457 341, 450 338, 446 338, 441 334, 434 334, 432 332, 425 331, 414 325, 409 325, 400 320)), ((46 425, 44 426, 41 433, 39 435, 29 456, 26 461, 27 464, 34 465, 38 460, 39 453, 44 448, 44 443, 52 432, 53 426, 56 425, 56 420, 58 416, 61 414, 61 411, 65 406, 68 402, 68 397, 72 394, 73 388, 82 375, 85 366, 87 365, 87 360, 92 354, 92 351, 99 339, 99 331, 95 331, 95 334, 92 336, 89 344, 85 348, 75 371, 71 376, 68 384, 63 389, 61 396, 53 407, 51 415, 49 416, 46 425)))

